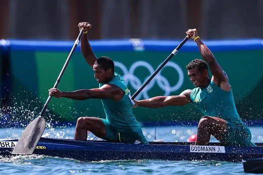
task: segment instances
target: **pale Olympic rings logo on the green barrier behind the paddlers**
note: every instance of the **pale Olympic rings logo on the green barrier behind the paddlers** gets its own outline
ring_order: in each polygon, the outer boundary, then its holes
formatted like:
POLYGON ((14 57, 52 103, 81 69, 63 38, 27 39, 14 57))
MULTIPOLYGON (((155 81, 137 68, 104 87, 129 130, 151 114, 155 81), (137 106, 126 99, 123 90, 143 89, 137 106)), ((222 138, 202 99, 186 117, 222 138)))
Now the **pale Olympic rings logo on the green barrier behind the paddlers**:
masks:
MULTIPOLYGON (((119 61, 114 61, 114 64, 115 64, 115 67, 119 67, 123 71, 124 74, 122 76, 124 78, 125 83, 127 85, 130 83, 130 85, 136 90, 138 88, 140 88, 140 86, 143 84, 143 82, 145 82, 155 70, 152 67, 152 65, 146 61, 134 62, 131 65, 129 70, 126 68, 126 66, 123 63, 121 63, 119 61), (143 82, 134 74, 135 69, 137 67, 140 67, 140 66, 145 67, 149 70, 149 76, 147 76, 143 82)), ((183 71, 182 71, 181 67, 178 64, 176 64, 175 62, 169 61, 155 75, 155 77, 147 84, 147 86, 141 91, 141 93, 139 93, 139 95, 136 97, 136 99, 140 99, 142 95, 143 95, 144 99, 150 98, 148 95, 148 91, 154 86, 155 82, 159 85, 159 87, 162 90, 164 90, 163 95, 165 95, 165 96, 169 95, 172 91, 176 91, 182 86, 183 80, 184 80, 184 75, 183 75, 183 71), (161 75, 162 70, 168 66, 174 68, 177 71, 178 76, 179 76, 177 83, 172 85, 172 86, 170 85, 167 78, 161 75)))

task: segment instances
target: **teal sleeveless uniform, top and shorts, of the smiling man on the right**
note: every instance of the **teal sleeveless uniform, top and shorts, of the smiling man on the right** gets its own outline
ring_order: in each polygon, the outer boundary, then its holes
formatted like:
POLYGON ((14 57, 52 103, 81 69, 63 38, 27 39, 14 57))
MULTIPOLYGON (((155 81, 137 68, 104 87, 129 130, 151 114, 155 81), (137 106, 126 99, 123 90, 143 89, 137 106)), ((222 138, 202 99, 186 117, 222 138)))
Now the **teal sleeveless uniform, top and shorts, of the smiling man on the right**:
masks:
POLYGON ((204 87, 196 87, 190 94, 190 99, 197 108, 207 116, 224 119, 226 131, 220 141, 223 145, 251 146, 251 132, 237 113, 232 89, 225 91, 212 80, 204 87))

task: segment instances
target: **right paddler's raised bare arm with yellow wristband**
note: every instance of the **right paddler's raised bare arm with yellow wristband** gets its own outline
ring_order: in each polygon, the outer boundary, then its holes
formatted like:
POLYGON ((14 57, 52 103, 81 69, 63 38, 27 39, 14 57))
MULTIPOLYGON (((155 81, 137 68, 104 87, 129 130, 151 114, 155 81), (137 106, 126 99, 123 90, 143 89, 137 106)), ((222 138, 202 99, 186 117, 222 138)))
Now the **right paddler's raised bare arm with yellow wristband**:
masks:
POLYGON ((200 37, 198 37, 196 29, 195 28, 188 29, 188 31, 186 31, 186 34, 191 36, 192 39, 196 38, 195 42, 199 48, 202 58, 207 62, 213 74, 212 81, 215 82, 222 89, 230 90, 227 74, 223 71, 222 67, 218 64, 210 49, 201 41, 200 37))

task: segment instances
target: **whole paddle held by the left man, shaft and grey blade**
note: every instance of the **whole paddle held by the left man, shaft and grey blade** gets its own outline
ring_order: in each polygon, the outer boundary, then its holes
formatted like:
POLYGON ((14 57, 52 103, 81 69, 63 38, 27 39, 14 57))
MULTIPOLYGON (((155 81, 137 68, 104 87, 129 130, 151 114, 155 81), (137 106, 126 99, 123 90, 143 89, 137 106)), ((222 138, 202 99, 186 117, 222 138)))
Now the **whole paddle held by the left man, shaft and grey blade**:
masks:
MULTIPOLYGON (((54 85, 54 88, 58 87, 58 84, 60 82, 60 79, 62 77, 62 75, 64 74, 69 61, 72 57, 73 52, 75 51, 76 47, 78 46, 79 42, 80 42, 80 37, 83 33, 83 29, 80 30, 80 33, 69 53, 69 56, 58 76, 58 79, 54 85)), ((44 112, 46 111, 48 104, 51 100, 52 96, 49 95, 44 107, 42 108, 40 115, 34 119, 33 121, 31 121, 29 123, 29 125, 26 127, 26 129, 24 130, 24 132, 22 133, 20 139, 17 142, 16 147, 13 150, 13 154, 32 154, 33 151, 35 150, 37 143, 39 142, 39 139, 41 137, 41 135, 43 134, 44 130, 45 130, 45 126, 46 126, 46 121, 45 118, 43 117, 44 112)))

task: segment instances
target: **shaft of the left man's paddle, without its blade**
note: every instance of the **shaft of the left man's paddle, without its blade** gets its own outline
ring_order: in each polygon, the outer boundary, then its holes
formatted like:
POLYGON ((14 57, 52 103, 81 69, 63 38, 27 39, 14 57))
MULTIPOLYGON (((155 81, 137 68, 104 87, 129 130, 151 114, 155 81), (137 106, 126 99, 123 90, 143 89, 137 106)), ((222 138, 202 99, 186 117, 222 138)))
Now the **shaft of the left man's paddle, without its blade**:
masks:
MULTIPOLYGON (((83 33, 83 29, 80 30, 80 33, 79 33, 79 35, 78 35, 78 37, 77 37, 77 39, 76 39, 76 41, 75 41, 75 43, 74 43, 74 45, 73 45, 70 53, 69 53, 69 56, 68 56, 68 58, 67 58, 67 60, 66 60, 66 62, 65 62, 65 64, 64 64, 62 70, 60 71, 60 74, 59 74, 59 76, 58 76, 58 79, 57 79, 57 81, 55 82, 53 88, 57 88, 57 87, 58 87, 59 82, 60 82, 60 80, 61 80, 61 77, 62 77, 62 75, 64 74, 64 72, 65 72, 65 70, 66 70, 66 68, 67 68, 67 66, 68 66, 68 64, 69 64, 69 62, 70 62, 70 59, 71 59, 71 57, 72 57, 72 54, 73 54, 73 52, 75 51, 75 49, 76 49, 76 47, 78 46, 78 44, 80 43, 80 37, 81 37, 82 33, 83 33)), ((44 107, 42 108, 42 110, 41 110, 41 112, 40 112, 40 116, 42 116, 43 113, 45 112, 45 110, 47 109, 48 104, 49 104, 51 98, 52 98, 52 96, 49 95, 46 103, 44 104, 44 107)))

